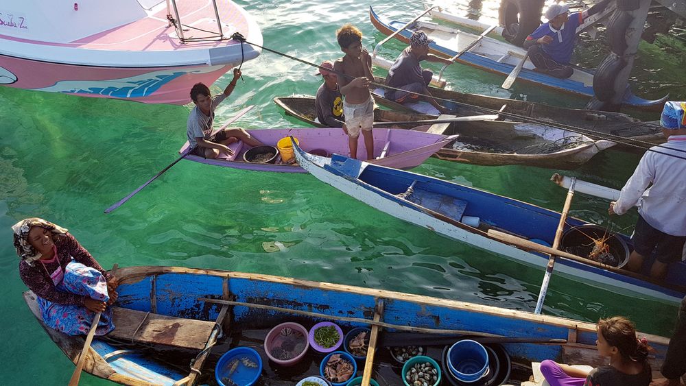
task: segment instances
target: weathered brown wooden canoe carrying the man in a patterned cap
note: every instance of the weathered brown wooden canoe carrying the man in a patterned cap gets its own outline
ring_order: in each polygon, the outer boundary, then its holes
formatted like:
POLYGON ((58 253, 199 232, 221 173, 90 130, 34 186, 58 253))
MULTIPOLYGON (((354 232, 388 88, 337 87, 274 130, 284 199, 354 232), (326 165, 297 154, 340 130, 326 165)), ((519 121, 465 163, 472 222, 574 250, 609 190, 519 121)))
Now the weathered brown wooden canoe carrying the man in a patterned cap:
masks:
MULTIPOLYGON (((375 77, 375 80, 379 84, 386 83, 386 79, 383 77, 375 77)), ((502 112, 506 113, 503 117, 511 121, 526 122, 528 121, 527 118, 531 118, 539 123, 549 122, 552 125, 559 124, 562 128, 567 125, 569 126, 569 129, 584 132, 584 134, 594 139, 616 139, 617 141, 628 139, 647 142, 654 145, 665 142, 660 121, 642 122, 627 114, 622 114, 621 112, 562 108, 517 99, 460 93, 459 91, 435 87, 429 87, 429 91, 431 92, 431 95, 434 95, 435 97, 457 102, 456 104, 451 105, 448 102, 439 101, 445 107, 456 110, 456 114, 458 115, 488 113, 488 111, 484 112, 484 110, 480 110, 480 108, 488 110, 502 109, 502 112), (507 114, 514 114, 514 116, 508 118, 507 114), (540 122, 539 120, 545 122, 540 122), (597 132, 597 134, 595 132, 597 132)), ((383 97, 384 92, 382 88, 375 89, 372 92, 372 95, 377 104, 394 110, 421 111, 426 113, 427 111, 431 111, 430 108, 433 108, 433 106, 427 102, 418 102, 412 105, 416 110, 412 110, 412 108, 408 108, 408 105, 398 104, 383 97)), ((438 113, 438 110, 435 110, 433 114, 435 115, 436 113, 438 113)), ((636 144, 641 145, 642 147, 646 147, 647 145, 640 142, 636 142, 636 144)), ((636 147, 622 145, 620 143, 617 146, 617 149, 635 151, 636 147)))

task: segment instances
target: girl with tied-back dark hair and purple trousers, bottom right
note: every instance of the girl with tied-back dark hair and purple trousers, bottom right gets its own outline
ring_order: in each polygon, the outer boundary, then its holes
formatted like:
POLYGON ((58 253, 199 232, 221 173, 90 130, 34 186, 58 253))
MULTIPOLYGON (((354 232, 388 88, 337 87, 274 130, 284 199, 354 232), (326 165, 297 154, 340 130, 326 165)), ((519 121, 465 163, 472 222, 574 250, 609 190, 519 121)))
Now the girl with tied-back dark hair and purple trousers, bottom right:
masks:
POLYGON ((550 386, 648 386, 652 380, 647 361, 648 341, 636 338, 634 324, 616 316, 598 321, 598 354, 610 364, 587 372, 546 359, 541 374, 550 386))

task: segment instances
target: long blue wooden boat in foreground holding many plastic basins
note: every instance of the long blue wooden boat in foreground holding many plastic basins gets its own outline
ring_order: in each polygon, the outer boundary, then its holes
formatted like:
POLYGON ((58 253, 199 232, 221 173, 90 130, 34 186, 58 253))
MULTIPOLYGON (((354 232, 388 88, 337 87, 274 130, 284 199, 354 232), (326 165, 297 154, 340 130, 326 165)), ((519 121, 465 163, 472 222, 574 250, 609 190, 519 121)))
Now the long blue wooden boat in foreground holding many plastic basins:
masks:
MULTIPOLYGON (((386 331, 403 330, 423 333, 421 337, 427 338, 431 337, 427 333, 493 337, 501 339, 501 347, 513 360, 524 363, 554 359, 589 364, 599 360, 595 352, 595 324, 561 317, 410 293, 214 269, 124 267, 117 270, 116 276, 120 282, 116 328, 107 337, 95 337, 84 371, 123 385, 202 383, 206 378, 198 379, 196 374, 211 376, 217 357, 234 346, 258 350, 264 365, 260 384, 294 385, 298 379, 318 374, 321 357, 306 361, 309 367, 299 364, 288 371, 267 361, 262 339, 270 328, 285 321, 310 328, 316 322, 331 320, 342 326, 344 333, 370 326, 370 341, 376 341, 374 335, 383 339, 386 331), (379 326, 386 329, 379 332, 379 326), (506 338, 567 342, 506 343, 506 338), (197 372, 190 370, 191 359, 195 359, 193 366, 197 372)), ((34 293, 27 291, 24 298, 51 339, 75 362, 84 337, 70 337, 48 328, 40 318, 34 293)), ((652 366, 659 368, 668 340, 646 336, 657 349, 652 366)), ((366 375, 383 380, 383 386, 401 385, 399 370, 395 370, 397 364, 372 367, 384 363, 383 350, 376 355, 374 352, 373 348, 368 351, 369 365, 360 365, 357 375, 367 370, 366 375), (383 374, 377 376, 379 372, 383 374)), ((428 354, 434 356, 431 349, 428 354)))

